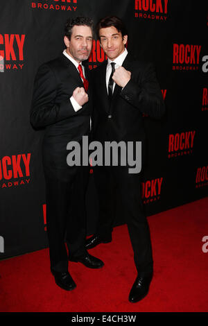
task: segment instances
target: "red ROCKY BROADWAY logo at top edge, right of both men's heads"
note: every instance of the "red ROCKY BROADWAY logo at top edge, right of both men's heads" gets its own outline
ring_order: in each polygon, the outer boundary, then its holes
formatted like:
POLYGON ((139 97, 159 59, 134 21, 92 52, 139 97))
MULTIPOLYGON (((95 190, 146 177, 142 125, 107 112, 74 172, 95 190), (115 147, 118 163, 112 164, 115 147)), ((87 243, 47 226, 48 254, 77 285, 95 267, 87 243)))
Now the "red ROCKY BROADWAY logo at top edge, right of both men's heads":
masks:
POLYGON ((166 22, 168 0, 135 0, 135 17, 166 22))

